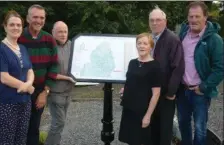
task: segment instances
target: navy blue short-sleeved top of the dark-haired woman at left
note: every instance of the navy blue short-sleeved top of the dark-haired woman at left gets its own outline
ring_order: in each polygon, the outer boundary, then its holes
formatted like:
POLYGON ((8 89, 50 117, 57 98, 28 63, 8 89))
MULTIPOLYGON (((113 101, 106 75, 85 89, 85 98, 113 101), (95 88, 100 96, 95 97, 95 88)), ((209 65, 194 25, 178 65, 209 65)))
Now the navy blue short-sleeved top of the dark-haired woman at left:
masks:
MULTIPOLYGON (((21 57, 1 42, 0 44, 0 72, 7 72, 12 77, 26 82, 28 70, 32 68, 28 52, 23 45, 19 45, 21 57), (22 65, 21 65, 22 62, 22 65)), ((28 93, 17 93, 12 88, 0 81, 0 103, 21 103, 30 100, 28 93)))

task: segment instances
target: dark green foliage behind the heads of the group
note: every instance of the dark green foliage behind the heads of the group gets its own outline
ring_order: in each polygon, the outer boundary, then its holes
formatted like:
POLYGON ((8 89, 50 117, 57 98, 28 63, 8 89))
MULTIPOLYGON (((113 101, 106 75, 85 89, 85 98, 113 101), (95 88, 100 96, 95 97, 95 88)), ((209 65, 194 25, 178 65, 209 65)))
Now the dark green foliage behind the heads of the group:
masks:
MULTIPOLYGON (((35 1, 0 2, 0 22, 9 10, 16 10, 25 19, 27 9, 35 1)), ((68 24, 69 38, 79 33, 138 34, 149 31, 149 12, 158 5, 165 11, 168 27, 186 19, 186 1, 41 1, 47 11, 44 29, 51 32, 54 22, 62 20, 68 24)), ((27 25, 27 24, 26 24, 27 25)), ((4 36, 0 29, 0 39, 4 36)))

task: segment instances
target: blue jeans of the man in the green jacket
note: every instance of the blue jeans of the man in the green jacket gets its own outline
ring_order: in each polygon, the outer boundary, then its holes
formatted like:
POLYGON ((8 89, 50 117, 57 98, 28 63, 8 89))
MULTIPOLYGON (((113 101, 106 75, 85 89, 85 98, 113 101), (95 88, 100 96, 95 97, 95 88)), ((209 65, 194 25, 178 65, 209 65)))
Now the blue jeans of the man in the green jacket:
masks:
POLYGON ((198 95, 181 87, 177 92, 177 115, 181 132, 181 145, 206 145, 208 109, 211 98, 198 95), (191 118, 194 118, 194 140, 191 118), (193 140, 193 141, 192 141, 193 140))

